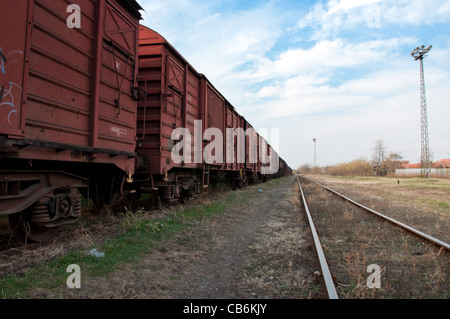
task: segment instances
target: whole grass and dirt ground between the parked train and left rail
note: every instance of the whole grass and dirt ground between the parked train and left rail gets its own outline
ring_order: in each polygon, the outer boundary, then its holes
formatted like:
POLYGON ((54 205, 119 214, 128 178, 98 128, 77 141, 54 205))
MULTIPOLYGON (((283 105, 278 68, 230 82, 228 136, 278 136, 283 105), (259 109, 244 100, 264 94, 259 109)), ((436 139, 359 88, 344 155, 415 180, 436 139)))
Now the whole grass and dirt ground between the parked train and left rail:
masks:
MULTIPOLYGON (((270 181, 231 194, 215 192, 210 194, 212 197, 202 196, 186 206, 145 214, 139 208, 129 211, 120 205, 92 214, 85 212, 79 224, 64 231, 65 237, 61 239, 67 238, 66 241, 55 241, 35 250, 39 257, 32 255, 31 250, 24 251, 28 255, 21 257, 24 272, 33 271, 35 264, 54 259, 58 264, 50 263, 49 267, 53 267, 52 271, 58 269, 59 277, 47 279, 41 275, 47 268, 37 270, 37 276, 22 280, 28 286, 31 280, 36 280, 32 289, 27 288, 24 293, 19 282, 10 283, 13 287, 4 297, 315 298, 318 288, 312 275, 314 260, 309 240, 304 237, 309 230, 306 226, 299 227, 302 217, 298 193, 291 189, 293 185, 286 179, 270 181), (260 188, 263 192, 258 191, 260 188), (212 215, 211 207, 220 213, 212 215), (191 208, 196 211, 195 218, 188 213, 191 208), (161 223, 169 219, 190 227, 147 241, 148 234, 164 227, 161 223), (108 267, 117 254, 121 255, 122 251, 116 250, 125 248, 121 239, 128 238, 130 230, 131 239, 139 237, 137 240, 146 241, 144 251, 137 252, 138 258, 120 259, 108 272, 100 269, 108 267), (86 260, 78 252, 73 256, 69 252, 78 249, 83 254, 92 247, 105 251, 105 258, 86 260), (59 258, 60 255, 64 256, 59 258), (30 263, 31 260, 34 261, 30 263), (81 263, 82 289, 65 287, 67 262, 81 263), (55 279, 58 282, 52 283, 55 279)), ((13 264, 17 273, 17 260, 13 264)))

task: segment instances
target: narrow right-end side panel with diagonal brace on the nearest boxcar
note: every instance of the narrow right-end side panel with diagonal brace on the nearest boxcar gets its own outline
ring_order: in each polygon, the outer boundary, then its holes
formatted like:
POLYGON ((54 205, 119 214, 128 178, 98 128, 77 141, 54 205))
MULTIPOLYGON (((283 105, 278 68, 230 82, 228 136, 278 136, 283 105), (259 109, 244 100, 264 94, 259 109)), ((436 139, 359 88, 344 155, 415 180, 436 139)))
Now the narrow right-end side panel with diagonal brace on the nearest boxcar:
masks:
POLYGON ((98 146, 134 152, 138 24, 107 3, 101 65, 98 146))

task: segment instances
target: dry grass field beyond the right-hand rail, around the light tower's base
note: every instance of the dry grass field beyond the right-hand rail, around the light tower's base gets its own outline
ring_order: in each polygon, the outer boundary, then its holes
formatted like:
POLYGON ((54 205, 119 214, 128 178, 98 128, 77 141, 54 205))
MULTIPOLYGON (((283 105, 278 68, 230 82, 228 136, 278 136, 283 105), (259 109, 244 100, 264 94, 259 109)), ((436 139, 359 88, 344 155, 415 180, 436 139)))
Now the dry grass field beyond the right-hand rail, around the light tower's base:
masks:
POLYGON ((450 179, 313 178, 389 217, 450 242, 450 179))

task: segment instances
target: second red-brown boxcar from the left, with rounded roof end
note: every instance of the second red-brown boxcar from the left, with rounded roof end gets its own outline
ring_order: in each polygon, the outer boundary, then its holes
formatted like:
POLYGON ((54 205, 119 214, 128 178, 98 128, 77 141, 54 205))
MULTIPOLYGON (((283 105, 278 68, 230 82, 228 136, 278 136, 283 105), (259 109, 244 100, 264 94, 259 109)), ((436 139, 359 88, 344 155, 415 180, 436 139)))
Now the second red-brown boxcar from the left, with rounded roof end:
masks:
POLYGON ((145 190, 151 183, 164 200, 198 194, 203 163, 194 151, 202 150, 201 76, 166 39, 144 26, 139 33, 139 88, 135 184, 145 190), (175 140, 176 132, 182 137, 175 140), (183 138, 187 143, 174 161, 172 149, 183 138))

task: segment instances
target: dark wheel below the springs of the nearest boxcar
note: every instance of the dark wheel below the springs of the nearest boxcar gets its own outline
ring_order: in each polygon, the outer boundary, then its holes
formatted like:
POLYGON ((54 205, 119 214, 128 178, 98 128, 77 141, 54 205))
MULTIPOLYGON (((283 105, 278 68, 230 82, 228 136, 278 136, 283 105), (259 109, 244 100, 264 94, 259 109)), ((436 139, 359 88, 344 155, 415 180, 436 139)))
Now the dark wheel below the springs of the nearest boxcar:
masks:
POLYGON ((43 227, 30 221, 30 214, 27 212, 8 215, 8 218, 13 234, 25 243, 47 242, 56 235, 56 227, 43 227))

